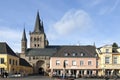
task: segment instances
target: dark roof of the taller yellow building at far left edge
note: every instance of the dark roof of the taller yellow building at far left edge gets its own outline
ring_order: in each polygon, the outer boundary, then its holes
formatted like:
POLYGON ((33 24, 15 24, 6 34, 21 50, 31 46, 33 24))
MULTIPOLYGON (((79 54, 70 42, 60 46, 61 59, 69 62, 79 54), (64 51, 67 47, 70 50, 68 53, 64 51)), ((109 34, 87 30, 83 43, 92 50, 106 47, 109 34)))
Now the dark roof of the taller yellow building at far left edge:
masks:
POLYGON ((0 54, 9 54, 18 57, 14 51, 5 42, 0 42, 0 54))

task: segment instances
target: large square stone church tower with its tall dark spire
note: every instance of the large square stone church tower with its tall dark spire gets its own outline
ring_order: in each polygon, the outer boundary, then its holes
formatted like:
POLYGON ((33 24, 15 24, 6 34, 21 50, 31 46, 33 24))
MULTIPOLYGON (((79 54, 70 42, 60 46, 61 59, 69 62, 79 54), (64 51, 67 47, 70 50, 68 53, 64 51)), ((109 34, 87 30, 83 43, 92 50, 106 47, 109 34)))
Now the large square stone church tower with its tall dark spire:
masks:
POLYGON ((40 20, 39 12, 37 12, 34 31, 30 32, 30 48, 45 48, 48 46, 48 40, 44 33, 43 21, 40 20))

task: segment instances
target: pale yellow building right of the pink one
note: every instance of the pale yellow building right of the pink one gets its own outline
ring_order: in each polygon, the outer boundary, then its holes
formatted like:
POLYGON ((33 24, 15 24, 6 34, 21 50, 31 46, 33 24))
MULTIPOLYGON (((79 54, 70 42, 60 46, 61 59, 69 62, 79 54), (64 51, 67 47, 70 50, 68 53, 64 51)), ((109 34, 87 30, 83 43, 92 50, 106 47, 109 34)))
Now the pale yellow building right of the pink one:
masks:
POLYGON ((120 74, 120 48, 105 45, 98 48, 99 53, 99 76, 120 74))

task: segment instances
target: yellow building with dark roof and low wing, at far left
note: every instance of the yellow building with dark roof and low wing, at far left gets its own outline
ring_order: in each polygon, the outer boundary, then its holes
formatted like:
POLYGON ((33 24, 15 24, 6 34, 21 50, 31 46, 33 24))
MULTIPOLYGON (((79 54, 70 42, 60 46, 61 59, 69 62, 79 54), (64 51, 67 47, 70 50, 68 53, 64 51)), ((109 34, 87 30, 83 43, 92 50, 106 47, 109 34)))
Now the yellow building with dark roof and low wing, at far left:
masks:
POLYGON ((15 73, 32 74, 32 67, 28 62, 19 58, 5 42, 0 42, 0 74, 7 72, 9 75, 15 73), (25 71, 29 69, 29 71, 25 71))

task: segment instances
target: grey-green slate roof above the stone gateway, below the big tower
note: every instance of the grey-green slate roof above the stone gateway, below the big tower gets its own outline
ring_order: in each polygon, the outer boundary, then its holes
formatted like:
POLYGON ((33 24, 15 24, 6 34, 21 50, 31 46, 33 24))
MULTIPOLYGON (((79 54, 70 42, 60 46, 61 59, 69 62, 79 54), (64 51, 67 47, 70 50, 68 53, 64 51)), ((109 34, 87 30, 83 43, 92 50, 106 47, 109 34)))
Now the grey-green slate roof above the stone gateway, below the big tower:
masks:
POLYGON ((57 52, 56 48, 28 48, 26 50, 27 56, 52 56, 57 52))

